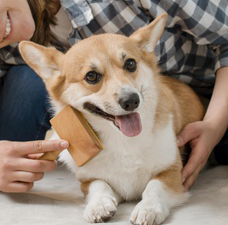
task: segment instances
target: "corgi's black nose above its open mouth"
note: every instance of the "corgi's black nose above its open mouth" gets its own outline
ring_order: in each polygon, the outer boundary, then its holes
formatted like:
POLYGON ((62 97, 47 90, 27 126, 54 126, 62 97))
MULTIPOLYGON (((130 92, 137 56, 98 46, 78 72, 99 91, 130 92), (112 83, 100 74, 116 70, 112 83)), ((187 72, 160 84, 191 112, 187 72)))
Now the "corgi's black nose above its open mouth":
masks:
POLYGON ((139 96, 136 93, 129 95, 127 98, 121 98, 119 100, 120 106, 126 111, 133 111, 139 106, 139 96))

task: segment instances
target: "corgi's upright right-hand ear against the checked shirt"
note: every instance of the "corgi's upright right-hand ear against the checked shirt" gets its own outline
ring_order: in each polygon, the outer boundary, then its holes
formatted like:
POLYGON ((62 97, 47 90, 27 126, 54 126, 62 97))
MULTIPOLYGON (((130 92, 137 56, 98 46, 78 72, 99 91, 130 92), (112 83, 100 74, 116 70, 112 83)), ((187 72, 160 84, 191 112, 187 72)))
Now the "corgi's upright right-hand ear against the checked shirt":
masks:
POLYGON ((167 13, 163 13, 149 25, 135 31, 130 38, 136 41, 142 50, 152 52, 164 31, 166 21, 167 13))

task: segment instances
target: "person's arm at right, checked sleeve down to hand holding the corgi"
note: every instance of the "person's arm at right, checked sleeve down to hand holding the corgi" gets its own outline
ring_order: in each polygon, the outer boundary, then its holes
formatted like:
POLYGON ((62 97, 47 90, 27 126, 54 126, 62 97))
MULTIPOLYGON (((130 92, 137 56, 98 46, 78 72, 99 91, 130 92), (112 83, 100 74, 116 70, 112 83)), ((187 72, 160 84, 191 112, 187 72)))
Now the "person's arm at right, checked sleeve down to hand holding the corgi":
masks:
MULTIPOLYGON (((162 2, 158 4, 162 5, 162 2)), ((167 9, 172 6, 172 3, 169 4, 166 5, 167 9)), ((187 190, 227 129, 228 15, 225 12, 228 5, 225 1, 218 3, 211 0, 200 4, 198 1, 185 1, 180 6, 175 14, 166 10, 173 18, 168 26, 173 26, 173 23, 179 25, 196 44, 214 50, 216 73, 213 96, 203 121, 187 125, 179 135, 179 146, 190 142, 192 148, 189 161, 182 171, 183 184, 187 190)))

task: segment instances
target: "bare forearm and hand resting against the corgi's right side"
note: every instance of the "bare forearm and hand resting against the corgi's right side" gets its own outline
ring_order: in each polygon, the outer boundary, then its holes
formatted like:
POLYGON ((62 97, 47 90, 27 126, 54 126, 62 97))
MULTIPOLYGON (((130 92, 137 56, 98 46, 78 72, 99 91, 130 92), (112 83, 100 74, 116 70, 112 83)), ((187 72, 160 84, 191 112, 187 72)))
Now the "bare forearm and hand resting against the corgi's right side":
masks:
POLYGON ((187 125, 178 136, 178 145, 190 142, 192 152, 183 168, 182 178, 188 190, 206 164, 211 151, 228 127, 228 67, 217 71, 215 87, 203 121, 187 125))

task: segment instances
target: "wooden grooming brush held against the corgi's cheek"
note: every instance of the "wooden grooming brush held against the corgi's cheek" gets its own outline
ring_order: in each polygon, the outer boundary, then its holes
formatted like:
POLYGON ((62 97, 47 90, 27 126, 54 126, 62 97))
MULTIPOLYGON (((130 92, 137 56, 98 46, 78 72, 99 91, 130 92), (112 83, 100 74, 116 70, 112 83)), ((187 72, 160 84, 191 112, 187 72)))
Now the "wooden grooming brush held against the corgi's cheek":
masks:
MULTIPOLYGON (((68 151, 78 166, 94 158, 103 145, 81 112, 66 106, 50 120, 61 139, 70 144, 68 151)), ((47 152, 40 159, 55 160, 61 151, 47 152)))

